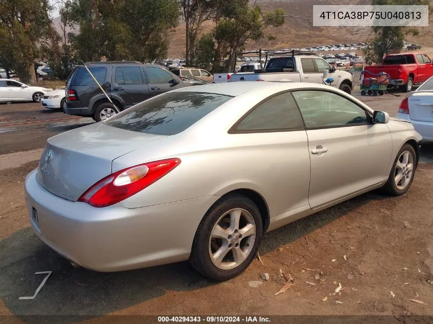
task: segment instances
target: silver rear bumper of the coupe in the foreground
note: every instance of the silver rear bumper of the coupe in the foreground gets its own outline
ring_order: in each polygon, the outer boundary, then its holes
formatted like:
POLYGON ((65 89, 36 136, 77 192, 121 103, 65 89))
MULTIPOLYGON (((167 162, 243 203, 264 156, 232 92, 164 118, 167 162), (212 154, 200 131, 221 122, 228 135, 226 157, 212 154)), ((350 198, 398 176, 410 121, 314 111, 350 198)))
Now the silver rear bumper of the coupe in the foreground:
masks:
POLYGON ((30 223, 40 239, 69 260, 96 271, 188 260, 198 224, 218 199, 95 208, 53 195, 39 184, 36 169, 26 177, 25 192, 30 223))

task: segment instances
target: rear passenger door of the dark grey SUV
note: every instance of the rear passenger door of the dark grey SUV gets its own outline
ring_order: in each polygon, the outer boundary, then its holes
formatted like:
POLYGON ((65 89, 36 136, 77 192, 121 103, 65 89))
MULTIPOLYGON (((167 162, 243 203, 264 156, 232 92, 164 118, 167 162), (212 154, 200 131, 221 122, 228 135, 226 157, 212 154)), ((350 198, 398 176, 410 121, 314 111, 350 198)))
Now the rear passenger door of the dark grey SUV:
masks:
POLYGON ((150 98, 148 84, 143 80, 144 73, 139 66, 113 69, 111 93, 122 98, 127 108, 150 98))

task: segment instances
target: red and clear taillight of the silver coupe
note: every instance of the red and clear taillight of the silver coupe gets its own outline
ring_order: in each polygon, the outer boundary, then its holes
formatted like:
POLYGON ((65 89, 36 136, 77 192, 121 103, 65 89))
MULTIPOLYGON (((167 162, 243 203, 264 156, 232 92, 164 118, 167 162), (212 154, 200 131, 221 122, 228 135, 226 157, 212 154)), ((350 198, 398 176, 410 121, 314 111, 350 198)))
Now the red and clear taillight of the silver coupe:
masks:
POLYGON ((122 169, 98 181, 78 199, 93 207, 107 207, 125 200, 167 175, 180 159, 167 159, 122 169))

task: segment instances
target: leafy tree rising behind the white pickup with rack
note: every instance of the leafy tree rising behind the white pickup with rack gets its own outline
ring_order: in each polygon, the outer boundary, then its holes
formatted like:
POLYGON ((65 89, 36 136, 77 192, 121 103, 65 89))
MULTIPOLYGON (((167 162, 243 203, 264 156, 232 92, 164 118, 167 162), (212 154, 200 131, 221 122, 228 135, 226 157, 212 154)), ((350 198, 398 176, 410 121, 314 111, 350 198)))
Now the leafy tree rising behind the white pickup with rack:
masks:
MULTIPOLYGON (((248 5, 247 5, 248 6, 248 5)), ((221 19, 213 31, 217 48, 213 63, 213 72, 219 70, 222 57, 228 56, 225 71, 233 69, 234 55, 239 49, 243 49, 250 40, 258 41, 265 36, 266 27, 278 27, 284 24, 284 11, 276 9, 263 13, 260 6, 244 8, 239 15, 232 18, 221 19)), ((269 35, 269 37, 273 37, 269 35)))

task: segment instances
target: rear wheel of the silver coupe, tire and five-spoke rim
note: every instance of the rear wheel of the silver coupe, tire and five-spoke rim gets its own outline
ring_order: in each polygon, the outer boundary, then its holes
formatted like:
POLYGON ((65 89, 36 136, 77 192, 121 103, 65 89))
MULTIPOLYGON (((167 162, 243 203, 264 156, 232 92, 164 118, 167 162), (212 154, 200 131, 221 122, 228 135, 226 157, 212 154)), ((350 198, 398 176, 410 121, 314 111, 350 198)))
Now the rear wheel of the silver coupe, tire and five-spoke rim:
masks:
POLYGON ((191 249, 190 263, 214 280, 228 280, 253 261, 263 235, 260 211, 242 195, 221 198, 204 215, 191 249))

